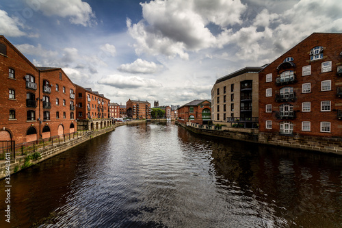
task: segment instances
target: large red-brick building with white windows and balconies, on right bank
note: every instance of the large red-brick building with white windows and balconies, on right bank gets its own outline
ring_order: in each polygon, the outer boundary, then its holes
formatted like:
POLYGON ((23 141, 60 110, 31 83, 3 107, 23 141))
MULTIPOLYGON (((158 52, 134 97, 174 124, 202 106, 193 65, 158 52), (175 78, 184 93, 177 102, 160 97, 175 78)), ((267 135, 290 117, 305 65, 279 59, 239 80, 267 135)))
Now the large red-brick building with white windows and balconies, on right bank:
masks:
POLYGON ((341 43, 311 34, 259 73, 259 133, 342 137, 341 43))

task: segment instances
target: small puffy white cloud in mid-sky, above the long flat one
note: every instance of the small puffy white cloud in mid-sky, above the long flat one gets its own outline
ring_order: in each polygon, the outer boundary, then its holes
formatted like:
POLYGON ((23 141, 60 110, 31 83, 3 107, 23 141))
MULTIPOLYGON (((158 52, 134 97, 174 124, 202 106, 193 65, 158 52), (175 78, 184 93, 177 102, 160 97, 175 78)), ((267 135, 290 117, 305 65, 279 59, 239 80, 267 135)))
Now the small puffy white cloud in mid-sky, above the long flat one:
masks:
POLYGON ((147 62, 146 60, 137 59, 131 64, 121 64, 118 70, 127 73, 142 73, 142 74, 153 74, 163 68, 162 65, 157 65, 154 62, 147 62))

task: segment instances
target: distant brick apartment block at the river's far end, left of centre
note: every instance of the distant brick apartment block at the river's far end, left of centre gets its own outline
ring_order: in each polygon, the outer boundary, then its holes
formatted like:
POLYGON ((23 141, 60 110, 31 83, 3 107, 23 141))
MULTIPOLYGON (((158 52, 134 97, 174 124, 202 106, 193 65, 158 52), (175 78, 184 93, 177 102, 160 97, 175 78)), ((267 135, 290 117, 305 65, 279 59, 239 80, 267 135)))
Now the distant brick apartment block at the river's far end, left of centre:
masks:
POLYGON ((134 119, 150 118, 150 103, 148 101, 135 101, 129 99, 126 103, 127 116, 134 119))

